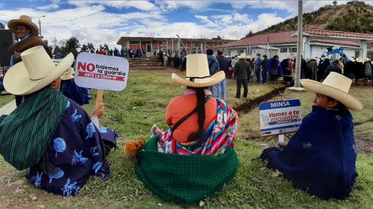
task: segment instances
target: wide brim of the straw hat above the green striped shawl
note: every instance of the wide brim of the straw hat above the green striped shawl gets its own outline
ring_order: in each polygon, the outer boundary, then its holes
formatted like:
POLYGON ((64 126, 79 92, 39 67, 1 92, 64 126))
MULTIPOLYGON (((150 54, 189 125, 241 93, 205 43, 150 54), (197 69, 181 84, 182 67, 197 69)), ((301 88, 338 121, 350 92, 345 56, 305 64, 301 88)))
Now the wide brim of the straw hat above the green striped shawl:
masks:
MULTIPOLYGON (((18 62, 4 76, 4 88, 11 94, 27 95, 43 89, 65 73, 74 61, 72 53, 59 60, 59 64, 44 78, 31 80, 23 62, 18 62)), ((56 64, 56 63, 55 63, 56 64)))

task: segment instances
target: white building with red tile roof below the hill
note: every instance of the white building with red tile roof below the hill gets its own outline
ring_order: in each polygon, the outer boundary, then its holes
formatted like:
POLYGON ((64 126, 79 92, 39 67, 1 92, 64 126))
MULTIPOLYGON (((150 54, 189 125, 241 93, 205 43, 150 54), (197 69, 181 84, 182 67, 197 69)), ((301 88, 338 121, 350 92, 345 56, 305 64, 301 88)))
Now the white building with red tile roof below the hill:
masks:
MULTIPOLYGON (((265 33, 251 36, 225 45, 212 47, 223 49, 226 55, 235 56, 245 53, 250 57, 266 54, 268 58, 278 55, 282 60, 286 55, 297 53, 297 31, 265 33)), ((310 57, 321 57, 325 49, 331 51, 335 45, 344 47, 347 57, 366 57, 366 44, 373 41, 373 34, 350 33, 330 30, 303 29, 303 51, 305 60, 310 57)), ((339 55, 335 54, 335 58, 339 55)))

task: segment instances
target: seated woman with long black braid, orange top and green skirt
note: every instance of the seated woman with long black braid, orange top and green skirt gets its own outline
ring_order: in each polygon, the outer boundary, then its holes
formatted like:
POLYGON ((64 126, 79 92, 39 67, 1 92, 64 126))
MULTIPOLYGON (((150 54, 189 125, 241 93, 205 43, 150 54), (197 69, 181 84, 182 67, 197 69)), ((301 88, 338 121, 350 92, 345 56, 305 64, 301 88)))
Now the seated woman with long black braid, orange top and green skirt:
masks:
POLYGON ((171 80, 186 86, 185 94, 167 107, 166 132, 156 125, 154 135, 138 152, 136 170, 148 189, 164 200, 195 203, 222 188, 235 175, 238 159, 233 149, 238 116, 208 90, 225 78, 210 75, 206 54, 187 56, 186 78, 171 80), (193 156, 190 156, 193 155, 193 156))

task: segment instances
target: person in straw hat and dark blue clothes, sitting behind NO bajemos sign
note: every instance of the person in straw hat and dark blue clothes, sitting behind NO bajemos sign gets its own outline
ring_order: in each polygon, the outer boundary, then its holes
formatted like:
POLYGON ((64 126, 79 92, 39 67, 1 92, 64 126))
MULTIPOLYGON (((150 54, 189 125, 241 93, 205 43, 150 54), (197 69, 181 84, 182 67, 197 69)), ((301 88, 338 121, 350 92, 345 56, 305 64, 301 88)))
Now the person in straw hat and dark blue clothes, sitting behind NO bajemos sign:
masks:
POLYGON ((69 67, 68 71, 61 76, 61 80, 63 80, 62 94, 74 100, 78 105, 89 104, 89 95, 75 84, 74 74, 74 68, 69 67))

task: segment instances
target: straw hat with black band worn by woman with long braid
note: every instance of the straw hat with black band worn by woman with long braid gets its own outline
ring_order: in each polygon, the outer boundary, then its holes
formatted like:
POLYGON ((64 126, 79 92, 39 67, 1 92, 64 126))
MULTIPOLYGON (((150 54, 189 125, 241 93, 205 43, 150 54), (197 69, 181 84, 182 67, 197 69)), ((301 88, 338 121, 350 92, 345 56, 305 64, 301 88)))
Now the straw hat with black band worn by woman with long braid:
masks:
POLYGON ((191 54, 186 56, 186 78, 172 73, 171 80, 177 84, 189 87, 209 87, 220 83, 225 78, 224 71, 210 75, 206 54, 191 54))

